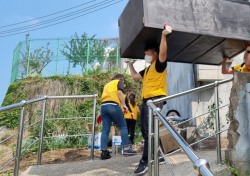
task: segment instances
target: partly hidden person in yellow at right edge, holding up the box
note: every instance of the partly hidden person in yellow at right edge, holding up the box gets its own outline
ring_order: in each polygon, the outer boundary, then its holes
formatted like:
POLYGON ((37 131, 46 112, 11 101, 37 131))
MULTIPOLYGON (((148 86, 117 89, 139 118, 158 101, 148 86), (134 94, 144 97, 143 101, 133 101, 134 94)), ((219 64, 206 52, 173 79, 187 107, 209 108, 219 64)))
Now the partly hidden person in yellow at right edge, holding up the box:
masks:
POLYGON ((250 72, 250 45, 246 47, 244 53, 244 62, 240 65, 233 66, 231 68, 227 68, 227 57, 223 58, 221 72, 222 74, 232 74, 234 71, 238 72, 250 72))

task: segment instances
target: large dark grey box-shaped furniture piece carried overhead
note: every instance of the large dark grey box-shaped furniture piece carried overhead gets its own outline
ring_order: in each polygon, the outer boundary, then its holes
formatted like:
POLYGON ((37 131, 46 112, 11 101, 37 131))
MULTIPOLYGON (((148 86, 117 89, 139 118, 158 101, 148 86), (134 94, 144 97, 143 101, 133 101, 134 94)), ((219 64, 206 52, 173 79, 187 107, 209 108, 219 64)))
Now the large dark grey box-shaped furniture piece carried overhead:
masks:
POLYGON ((145 41, 160 40, 169 24, 170 61, 220 65, 250 42, 249 11, 239 0, 130 0, 118 22, 121 56, 143 58, 145 41))

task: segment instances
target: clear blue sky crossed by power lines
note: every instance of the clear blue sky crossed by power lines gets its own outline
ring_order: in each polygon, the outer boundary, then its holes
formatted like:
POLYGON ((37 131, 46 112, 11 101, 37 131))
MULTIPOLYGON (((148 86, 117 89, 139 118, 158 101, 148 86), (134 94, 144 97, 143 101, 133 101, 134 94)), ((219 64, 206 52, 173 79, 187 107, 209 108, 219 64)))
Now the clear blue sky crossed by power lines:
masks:
POLYGON ((127 3, 128 0, 0 1, 0 105, 10 85, 13 50, 19 42, 25 41, 26 34, 29 33, 30 39, 70 38, 75 33, 96 35, 96 38, 119 37, 118 19, 127 3), (57 13, 57 16, 62 16, 90 6, 95 8, 79 18, 38 30, 26 28, 25 31, 17 31, 17 28, 25 25, 38 24, 55 17, 47 15, 64 11, 57 13), (71 10, 65 11, 66 9, 71 10), (47 17, 40 18, 44 16, 47 17), (29 22, 21 23, 24 21, 29 22), (16 25, 17 23, 21 24, 16 25), (6 36, 13 34, 9 33, 11 31, 24 33, 6 36))

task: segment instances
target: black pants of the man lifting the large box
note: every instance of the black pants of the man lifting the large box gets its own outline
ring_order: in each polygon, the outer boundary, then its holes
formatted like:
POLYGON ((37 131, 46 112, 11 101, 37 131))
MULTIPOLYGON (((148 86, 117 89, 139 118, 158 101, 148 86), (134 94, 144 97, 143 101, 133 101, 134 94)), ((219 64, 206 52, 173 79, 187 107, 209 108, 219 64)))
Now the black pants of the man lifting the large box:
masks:
MULTIPOLYGON (((163 104, 158 103, 156 106, 162 108, 163 104)), ((143 101, 141 106, 141 133, 144 138, 142 160, 148 162, 148 105, 146 101, 143 101)))

